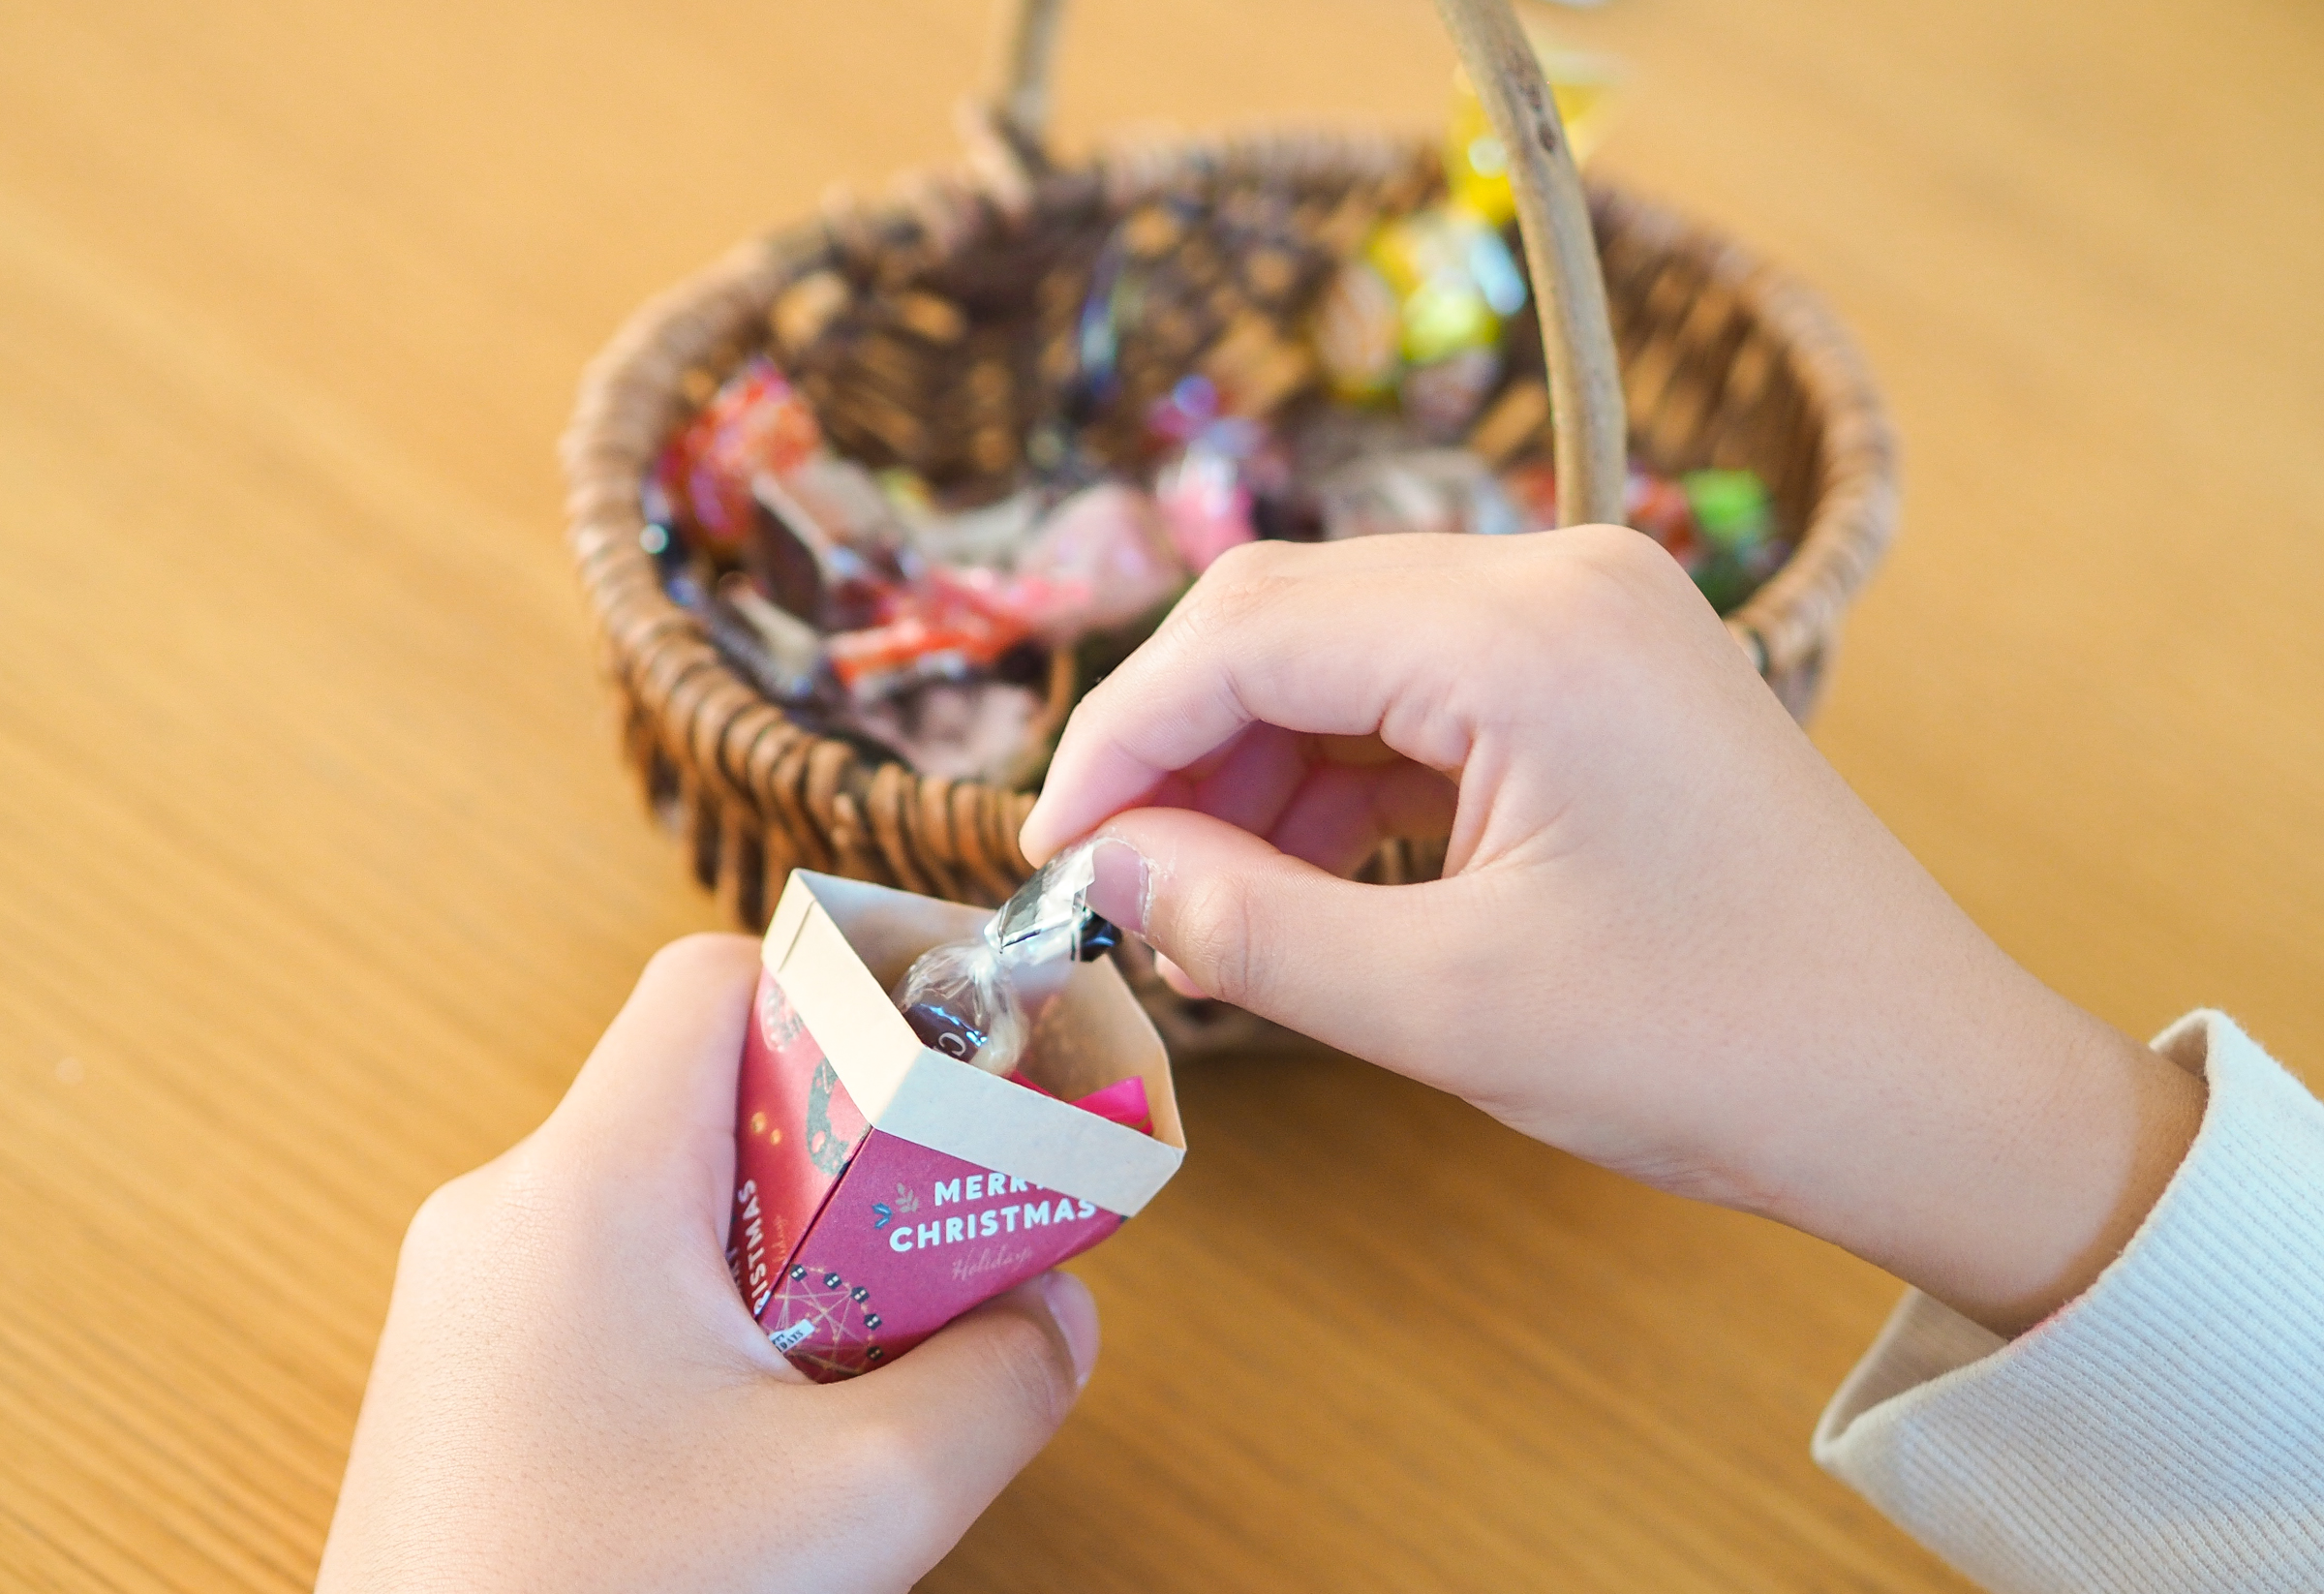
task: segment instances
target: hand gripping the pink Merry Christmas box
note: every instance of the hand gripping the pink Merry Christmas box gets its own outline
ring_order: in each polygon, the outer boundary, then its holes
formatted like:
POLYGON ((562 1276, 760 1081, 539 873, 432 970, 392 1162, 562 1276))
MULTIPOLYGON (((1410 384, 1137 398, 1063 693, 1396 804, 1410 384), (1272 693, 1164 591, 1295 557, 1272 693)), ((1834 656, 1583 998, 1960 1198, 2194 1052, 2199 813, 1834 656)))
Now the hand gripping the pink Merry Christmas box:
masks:
POLYGON ((660 953, 548 1122, 414 1218, 318 1589, 904 1589, 1064 1420, 1097 1355, 1064 1273, 830 1387, 751 1322, 755 971, 660 953))

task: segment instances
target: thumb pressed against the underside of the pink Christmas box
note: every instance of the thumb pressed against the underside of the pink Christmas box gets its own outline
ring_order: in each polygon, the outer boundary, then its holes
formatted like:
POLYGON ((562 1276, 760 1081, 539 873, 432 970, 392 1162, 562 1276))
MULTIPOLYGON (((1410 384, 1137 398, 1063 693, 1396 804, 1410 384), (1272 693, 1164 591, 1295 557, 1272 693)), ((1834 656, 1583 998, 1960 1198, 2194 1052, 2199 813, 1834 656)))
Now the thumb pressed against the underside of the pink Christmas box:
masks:
POLYGON ((1071 1273, 999 1294, 876 1376, 848 1385, 885 1403, 923 1462, 927 1527, 951 1543, 1050 1441, 1097 1366, 1097 1301, 1071 1273))

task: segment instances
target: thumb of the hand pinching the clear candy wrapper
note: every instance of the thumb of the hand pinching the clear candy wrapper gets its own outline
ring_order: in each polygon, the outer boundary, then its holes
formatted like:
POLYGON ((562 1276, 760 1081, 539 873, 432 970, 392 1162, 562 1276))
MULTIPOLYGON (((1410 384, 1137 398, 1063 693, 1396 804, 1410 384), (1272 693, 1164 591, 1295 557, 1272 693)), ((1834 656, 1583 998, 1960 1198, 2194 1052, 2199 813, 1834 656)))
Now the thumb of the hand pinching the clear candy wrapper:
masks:
POLYGON ((1441 946, 1443 883, 1357 885, 1192 809, 1118 816, 1092 862, 1090 906, 1206 997, 1357 1057, 1425 1043, 1413 992, 1441 946))

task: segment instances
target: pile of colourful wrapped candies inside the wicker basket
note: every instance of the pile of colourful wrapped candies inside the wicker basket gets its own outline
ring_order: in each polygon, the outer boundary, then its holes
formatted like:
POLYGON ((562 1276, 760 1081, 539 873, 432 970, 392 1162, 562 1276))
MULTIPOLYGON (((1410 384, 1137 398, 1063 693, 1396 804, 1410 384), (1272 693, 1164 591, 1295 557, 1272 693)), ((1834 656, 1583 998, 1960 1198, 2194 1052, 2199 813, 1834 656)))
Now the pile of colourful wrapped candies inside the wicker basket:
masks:
MULTIPOLYGON (((646 483, 665 588, 802 725, 923 774, 1032 785, 1078 695, 1236 544, 1555 525, 1515 207, 1466 91, 1443 165, 1427 202, 1360 214, 1322 249, 1267 195, 1134 207, 1060 274, 1043 414, 997 448, 1004 472, 844 458, 809 381, 753 356, 646 483), (1185 358, 1174 318, 1222 258, 1290 309, 1185 358)), ((774 321, 820 321, 832 297, 846 288, 806 279, 774 321)), ((957 304, 906 300, 960 335, 957 304)), ((1634 467, 1627 511, 1720 609, 1787 553, 1750 472, 1634 467)))

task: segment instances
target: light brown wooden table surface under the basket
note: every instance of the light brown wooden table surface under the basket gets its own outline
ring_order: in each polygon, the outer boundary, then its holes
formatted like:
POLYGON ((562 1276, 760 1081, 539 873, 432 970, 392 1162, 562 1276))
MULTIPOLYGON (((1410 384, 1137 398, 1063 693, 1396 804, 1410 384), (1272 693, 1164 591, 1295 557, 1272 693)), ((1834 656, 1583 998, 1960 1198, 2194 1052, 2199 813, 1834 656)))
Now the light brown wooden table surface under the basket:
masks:
MULTIPOLYGON (((1613 0, 1604 167, 1906 439, 1817 739, 2001 941, 2324 1062, 2324 12, 1613 0)), ((551 444, 951 156, 969 0, 0 7, 0 1582, 304 1587, 397 1236, 713 922, 551 444)), ((1422 0, 1085 0, 1062 130, 1441 114, 1422 0)), ((2324 1074, 2312 1074, 2324 1078, 2324 1074)), ((1106 1359, 934 1589, 1959 1589, 1808 1462, 1896 1290, 1339 1060, 1185 1069, 1106 1359)))

